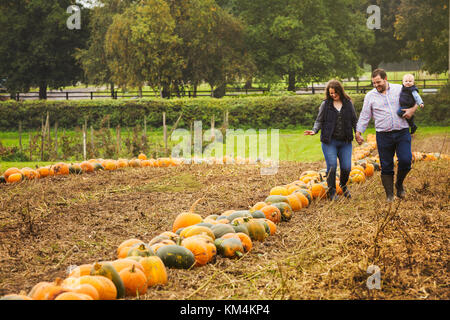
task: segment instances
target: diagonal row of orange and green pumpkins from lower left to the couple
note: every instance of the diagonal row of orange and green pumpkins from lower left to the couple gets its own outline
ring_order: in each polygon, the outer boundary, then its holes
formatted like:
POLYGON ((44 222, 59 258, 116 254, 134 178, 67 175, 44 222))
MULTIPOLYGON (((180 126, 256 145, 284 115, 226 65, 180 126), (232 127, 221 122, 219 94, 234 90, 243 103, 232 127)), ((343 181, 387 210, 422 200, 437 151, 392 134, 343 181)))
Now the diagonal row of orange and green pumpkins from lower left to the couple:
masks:
MULTIPOLYGON (((373 144, 367 144, 362 148, 371 151, 373 147, 373 144)), ((422 153, 415 153, 414 157, 416 161, 433 159, 430 154, 422 153)), ((354 162, 349 183, 364 182, 379 169, 377 158, 358 159, 354 162)), ((139 297, 150 287, 167 284, 166 268, 204 266, 217 256, 241 258, 252 250, 254 242, 263 242, 275 234, 280 222, 290 221, 294 212, 324 199, 327 191, 325 174, 326 170, 305 171, 298 180, 273 187, 263 202, 257 202, 248 210, 227 210, 203 218, 195 213, 195 207, 202 200, 199 199, 188 212, 177 215, 172 230, 162 232, 149 242, 135 238, 123 241, 117 247, 114 260, 76 266, 65 279, 42 281, 28 294, 10 294, 1 299, 115 300, 139 297)), ((338 189, 338 193, 342 190, 338 189)))

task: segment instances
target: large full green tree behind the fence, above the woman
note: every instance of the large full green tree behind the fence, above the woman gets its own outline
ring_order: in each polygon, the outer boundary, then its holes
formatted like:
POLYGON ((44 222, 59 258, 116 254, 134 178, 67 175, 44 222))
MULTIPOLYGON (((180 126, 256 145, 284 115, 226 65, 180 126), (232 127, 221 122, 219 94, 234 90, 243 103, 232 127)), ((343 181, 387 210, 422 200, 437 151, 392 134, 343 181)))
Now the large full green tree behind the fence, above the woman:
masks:
POLYGON ((246 43, 264 82, 297 82, 357 75, 358 43, 371 36, 357 1, 224 1, 246 24, 246 43), (349 21, 351 23, 349 23, 349 21))

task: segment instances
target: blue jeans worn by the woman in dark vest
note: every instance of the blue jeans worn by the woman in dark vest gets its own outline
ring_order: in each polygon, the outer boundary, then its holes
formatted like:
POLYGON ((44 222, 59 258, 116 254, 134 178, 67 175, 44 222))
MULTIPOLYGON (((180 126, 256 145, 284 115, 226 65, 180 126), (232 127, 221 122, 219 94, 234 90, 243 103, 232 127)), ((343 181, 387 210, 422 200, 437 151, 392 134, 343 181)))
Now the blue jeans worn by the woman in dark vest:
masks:
MULTIPOLYGON (((352 169, 352 143, 331 139, 330 143, 322 142, 322 151, 327 163, 327 176, 336 172, 337 159, 341 168, 340 185, 345 186, 348 181, 348 175, 352 169)), ((335 176, 335 175, 334 175, 335 176)), ((333 186, 329 186, 333 187, 333 186)), ((335 187, 335 185, 334 185, 335 187)))

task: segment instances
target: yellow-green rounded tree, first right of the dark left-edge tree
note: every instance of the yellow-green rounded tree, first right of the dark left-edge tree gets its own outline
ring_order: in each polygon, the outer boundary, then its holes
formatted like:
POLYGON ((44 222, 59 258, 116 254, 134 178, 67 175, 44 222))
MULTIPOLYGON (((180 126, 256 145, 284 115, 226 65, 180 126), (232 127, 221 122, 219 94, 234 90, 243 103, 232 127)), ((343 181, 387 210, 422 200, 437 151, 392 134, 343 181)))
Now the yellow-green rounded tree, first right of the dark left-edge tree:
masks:
POLYGON ((105 38, 112 79, 122 87, 140 89, 148 82, 165 96, 183 63, 177 55, 181 40, 174 28, 164 0, 143 0, 115 15, 105 38))

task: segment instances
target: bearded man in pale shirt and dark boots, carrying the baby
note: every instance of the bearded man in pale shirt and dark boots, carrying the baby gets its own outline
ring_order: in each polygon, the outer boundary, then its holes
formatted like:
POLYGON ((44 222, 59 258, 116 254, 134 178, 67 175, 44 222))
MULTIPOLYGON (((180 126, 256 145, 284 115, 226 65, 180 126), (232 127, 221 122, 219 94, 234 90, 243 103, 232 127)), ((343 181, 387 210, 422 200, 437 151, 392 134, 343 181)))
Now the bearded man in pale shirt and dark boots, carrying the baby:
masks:
POLYGON ((375 121, 378 154, 381 163, 381 182, 388 202, 394 200, 394 154, 397 153, 398 168, 395 187, 397 197, 406 196, 403 181, 411 170, 411 134, 405 120, 410 119, 417 105, 405 111, 403 118, 397 115, 400 107, 400 84, 389 83, 386 72, 376 69, 372 72, 372 83, 375 87, 364 98, 364 105, 356 124, 356 141, 364 142, 361 134, 366 130, 370 119, 375 121))

